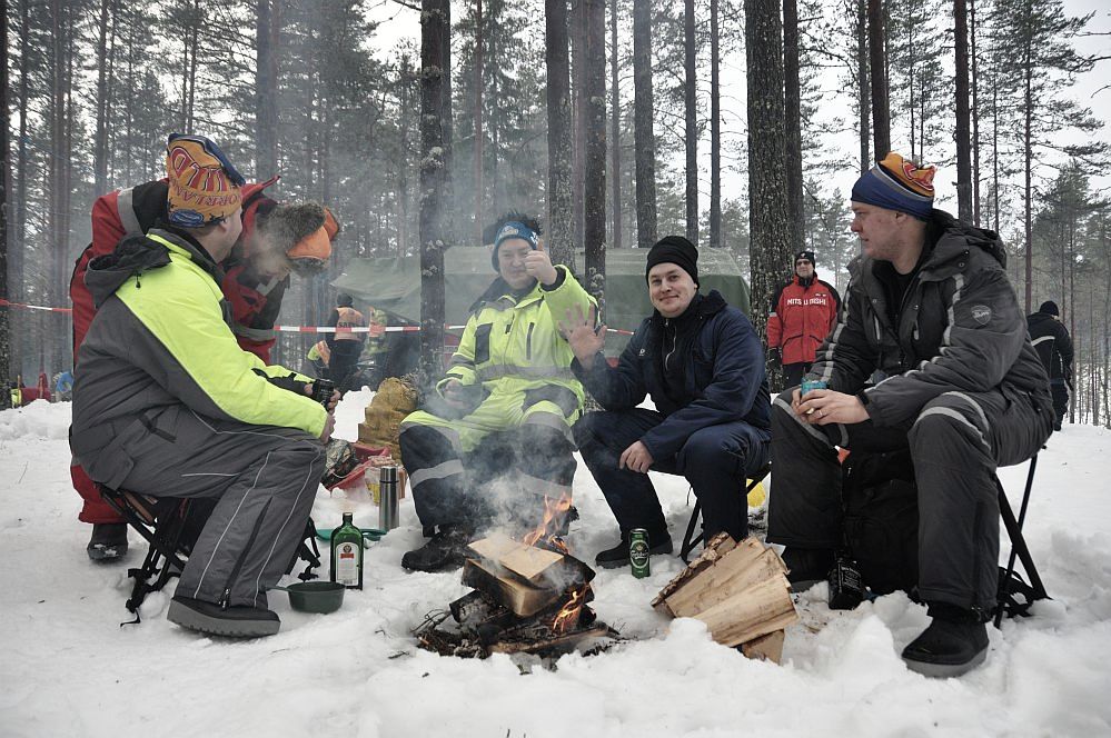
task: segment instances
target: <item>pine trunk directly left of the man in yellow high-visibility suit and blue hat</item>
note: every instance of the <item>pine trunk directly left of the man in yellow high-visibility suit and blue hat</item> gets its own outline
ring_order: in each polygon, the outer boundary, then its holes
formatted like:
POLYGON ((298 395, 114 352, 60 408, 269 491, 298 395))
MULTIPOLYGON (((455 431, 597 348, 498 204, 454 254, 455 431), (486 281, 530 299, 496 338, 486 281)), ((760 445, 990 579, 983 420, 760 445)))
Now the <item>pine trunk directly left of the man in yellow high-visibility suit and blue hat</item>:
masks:
POLYGON ((420 12, 420 383, 444 370, 444 47, 450 27, 444 6, 421 0, 420 12))

